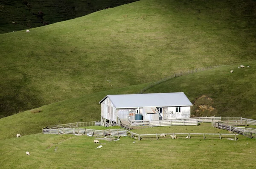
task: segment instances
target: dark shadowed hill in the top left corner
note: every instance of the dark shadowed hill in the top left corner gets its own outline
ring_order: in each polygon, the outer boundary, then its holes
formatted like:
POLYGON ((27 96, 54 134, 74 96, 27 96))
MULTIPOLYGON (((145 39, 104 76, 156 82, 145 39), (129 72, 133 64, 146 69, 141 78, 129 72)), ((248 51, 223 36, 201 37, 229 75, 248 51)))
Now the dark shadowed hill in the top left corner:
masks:
POLYGON ((70 20, 134 1, 137 0, 1 0, 0 33, 70 20))

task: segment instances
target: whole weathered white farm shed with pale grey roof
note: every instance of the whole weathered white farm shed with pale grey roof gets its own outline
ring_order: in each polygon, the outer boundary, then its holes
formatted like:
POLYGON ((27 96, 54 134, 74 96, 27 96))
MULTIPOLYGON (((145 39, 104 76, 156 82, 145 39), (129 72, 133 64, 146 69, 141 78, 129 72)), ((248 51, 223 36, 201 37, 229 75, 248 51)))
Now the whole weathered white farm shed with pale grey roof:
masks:
POLYGON ((101 104, 102 122, 190 118, 192 103, 183 92, 107 95, 101 104))

